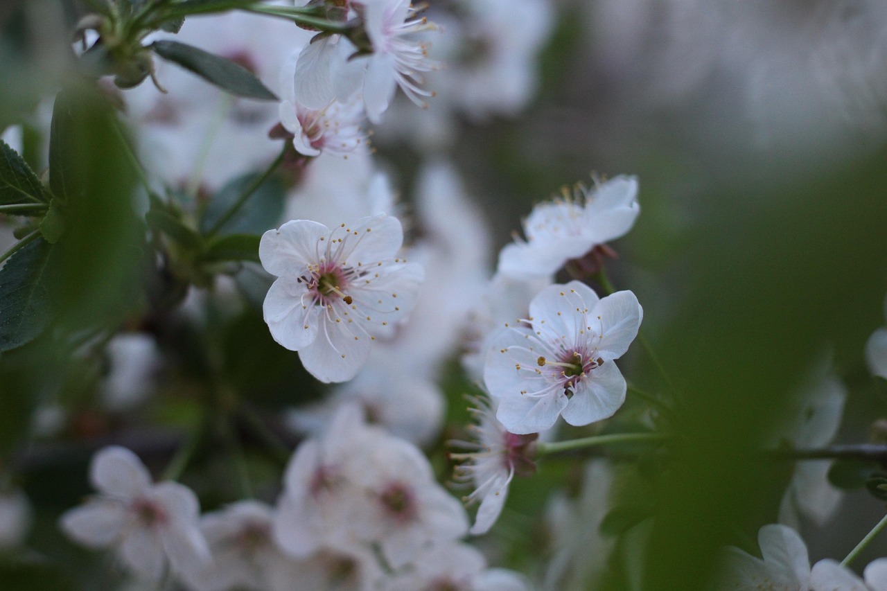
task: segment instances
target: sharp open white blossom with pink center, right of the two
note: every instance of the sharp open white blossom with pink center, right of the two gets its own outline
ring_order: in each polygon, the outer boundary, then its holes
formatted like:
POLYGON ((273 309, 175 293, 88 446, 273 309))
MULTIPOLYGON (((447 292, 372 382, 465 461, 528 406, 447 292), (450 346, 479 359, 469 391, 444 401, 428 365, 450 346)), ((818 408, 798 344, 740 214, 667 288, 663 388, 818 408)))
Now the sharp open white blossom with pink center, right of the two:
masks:
POLYGON ((643 310, 630 291, 599 298, 579 281, 543 289, 530 318, 506 325, 483 368, 496 416, 516 434, 551 429, 559 415, 571 425, 612 416, 625 400, 625 379, 613 362, 638 335, 643 310))

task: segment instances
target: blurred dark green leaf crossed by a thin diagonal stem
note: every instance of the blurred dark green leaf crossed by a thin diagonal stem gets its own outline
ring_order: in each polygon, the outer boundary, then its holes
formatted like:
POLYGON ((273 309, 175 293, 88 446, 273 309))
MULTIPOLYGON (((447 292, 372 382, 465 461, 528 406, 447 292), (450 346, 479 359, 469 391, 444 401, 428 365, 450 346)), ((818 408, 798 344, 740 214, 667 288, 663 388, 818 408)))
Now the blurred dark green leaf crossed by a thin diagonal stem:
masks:
MULTIPOLYGON (((224 185, 212 200, 200 218, 200 232, 209 232, 216 220, 224 216, 225 211, 238 201, 256 179, 258 174, 247 174, 237 177, 224 185)), ((279 225, 283 216, 284 203, 287 200, 287 189, 277 177, 268 178, 255 190, 249 201, 239 209, 237 216, 222 225, 218 233, 223 234, 261 234, 279 225)))

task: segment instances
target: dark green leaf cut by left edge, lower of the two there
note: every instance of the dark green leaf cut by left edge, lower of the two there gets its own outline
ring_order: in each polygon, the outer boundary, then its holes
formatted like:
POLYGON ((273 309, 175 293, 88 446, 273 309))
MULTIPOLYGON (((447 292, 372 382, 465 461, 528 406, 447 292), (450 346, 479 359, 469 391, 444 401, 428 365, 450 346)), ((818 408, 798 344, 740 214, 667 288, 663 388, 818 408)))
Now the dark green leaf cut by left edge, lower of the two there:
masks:
POLYGON ((33 341, 49 325, 51 251, 51 244, 38 238, 0 269, 0 351, 33 341))

